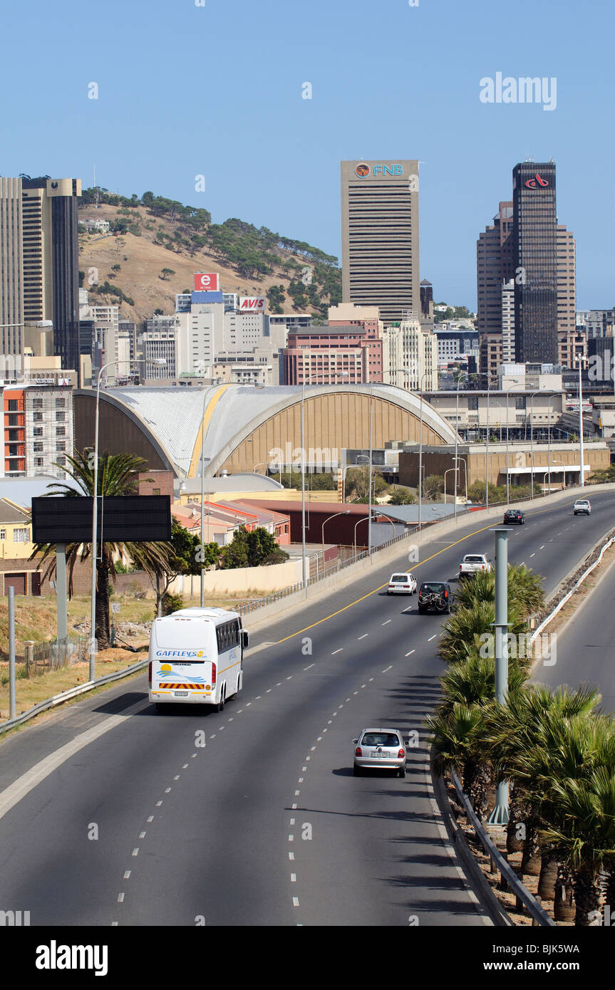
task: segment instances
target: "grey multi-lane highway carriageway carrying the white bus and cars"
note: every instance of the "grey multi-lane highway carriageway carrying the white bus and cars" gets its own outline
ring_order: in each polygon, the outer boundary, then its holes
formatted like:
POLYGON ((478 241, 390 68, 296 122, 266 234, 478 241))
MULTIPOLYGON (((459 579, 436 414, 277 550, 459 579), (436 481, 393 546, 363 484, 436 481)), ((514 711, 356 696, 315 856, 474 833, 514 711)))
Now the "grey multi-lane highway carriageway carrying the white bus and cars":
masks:
MULTIPOLYGON (((592 493, 588 518, 572 501, 511 527, 510 560, 547 591, 612 526, 615 493, 592 493)), ((436 528, 417 577, 492 556, 493 525, 436 528)), ((143 676, 2 743, 0 907, 33 926, 489 924, 432 796, 422 720, 442 619, 388 597, 393 570, 374 563, 256 632, 244 691, 221 714, 158 715, 143 676), (380 721, 419 734, 405 779, 352 775, 353 739, 380 721)), ((566 676, 585 669, 571 653, 566 676)))

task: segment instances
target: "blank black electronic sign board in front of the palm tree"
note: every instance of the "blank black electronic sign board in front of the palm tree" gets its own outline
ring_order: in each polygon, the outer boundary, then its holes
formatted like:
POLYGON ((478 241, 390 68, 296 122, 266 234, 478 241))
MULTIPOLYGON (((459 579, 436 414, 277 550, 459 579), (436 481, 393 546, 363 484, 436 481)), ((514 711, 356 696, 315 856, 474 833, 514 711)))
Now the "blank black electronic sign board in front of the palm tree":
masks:
MULTIPOLYGON (((98 497, 99 543, 144 543, 171 538, 169 495, 98 497)), ((92 498, 33 498, 35 544, 92 542, 92 498)))

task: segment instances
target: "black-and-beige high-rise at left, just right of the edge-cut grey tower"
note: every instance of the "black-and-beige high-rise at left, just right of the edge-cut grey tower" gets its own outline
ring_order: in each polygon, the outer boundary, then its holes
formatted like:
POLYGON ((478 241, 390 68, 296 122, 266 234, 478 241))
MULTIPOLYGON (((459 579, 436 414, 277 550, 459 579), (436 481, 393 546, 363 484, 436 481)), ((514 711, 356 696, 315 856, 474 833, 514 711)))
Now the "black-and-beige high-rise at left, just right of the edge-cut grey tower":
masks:
POLYGON ((22 178, 24 318, 51 320, 53 352, 80 373, 80 179, 22 178))

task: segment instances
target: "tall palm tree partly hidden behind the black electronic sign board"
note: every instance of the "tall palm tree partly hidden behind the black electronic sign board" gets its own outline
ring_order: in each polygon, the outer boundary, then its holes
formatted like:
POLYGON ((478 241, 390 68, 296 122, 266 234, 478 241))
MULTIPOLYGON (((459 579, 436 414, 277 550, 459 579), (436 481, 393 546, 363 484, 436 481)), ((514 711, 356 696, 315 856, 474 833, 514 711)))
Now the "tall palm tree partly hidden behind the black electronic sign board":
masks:
MULTIPOLYGON (((70 476, 73 482, 53 482, 47 495, 63 495, 65 498, 80 498, 94 493, 94 455, 86 449, 75 451, 73 456, 67 455, 70 465, 56 465, 70 476), (76 487, 75 487, 76 485, 76 487)), ((109 497, 112 495, 131 495, 137 488, 137 474, 143 470, 146 460, 131 453, 109 453, 105 451, 98 456, 98 492, 109 497)), ((66 569, 68 572, 68 597, 72 597, 72 575, 75 563, 84 563, 91 553, 90 544, 66 544, 66 569)), ((42 554, 42 560, 48 560, 45 577, 50 577, 55 571, 55 545, 37 544, 32 557, 42 554)), ((168 545, 163 543, 108 543, 97 545, 96 558, 96 630, 95 638, 98 649, 109 647, 109 581, 116 575, 114 561, 122 554, 127 554, 134 563, 149 574, 160 571, 167 565, 168 545)))

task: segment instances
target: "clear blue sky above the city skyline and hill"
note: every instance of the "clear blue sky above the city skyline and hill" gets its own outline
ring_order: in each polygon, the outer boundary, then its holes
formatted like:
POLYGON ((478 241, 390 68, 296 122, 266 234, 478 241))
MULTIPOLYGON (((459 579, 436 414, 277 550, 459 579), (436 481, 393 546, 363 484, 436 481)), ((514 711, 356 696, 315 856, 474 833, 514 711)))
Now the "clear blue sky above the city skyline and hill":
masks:
POLYGON ((611 307, 614 11, 612 0, 11 4, 0 173, 91 185, 95 165, 109 190, 151 189, 339 256, 340 160, 416 157, 421 278, 437 300, 474 309, 476 238, 510 198, 513 165, 553 157, 577 306, 611 307), (481 103, 480 79, 498 71, 556 77, 556 109, 481 103))

